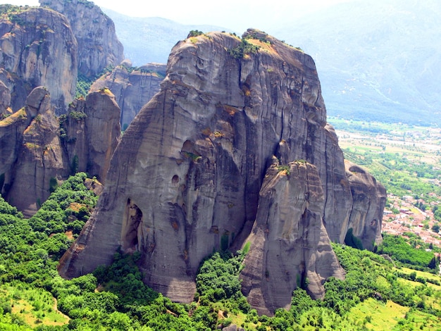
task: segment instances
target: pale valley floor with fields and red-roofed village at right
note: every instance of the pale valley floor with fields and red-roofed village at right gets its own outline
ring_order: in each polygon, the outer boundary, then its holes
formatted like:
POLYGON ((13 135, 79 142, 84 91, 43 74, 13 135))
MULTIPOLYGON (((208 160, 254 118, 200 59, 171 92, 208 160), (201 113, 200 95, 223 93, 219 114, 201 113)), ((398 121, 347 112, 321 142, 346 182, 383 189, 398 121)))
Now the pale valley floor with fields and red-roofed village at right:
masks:
POLYGON ((370 171, 387 189, 382 232, 441 247, 441 130, 402 123, 328 118, 344 157, 370 171), (435 230, 433 226, 435 225, 435 230))

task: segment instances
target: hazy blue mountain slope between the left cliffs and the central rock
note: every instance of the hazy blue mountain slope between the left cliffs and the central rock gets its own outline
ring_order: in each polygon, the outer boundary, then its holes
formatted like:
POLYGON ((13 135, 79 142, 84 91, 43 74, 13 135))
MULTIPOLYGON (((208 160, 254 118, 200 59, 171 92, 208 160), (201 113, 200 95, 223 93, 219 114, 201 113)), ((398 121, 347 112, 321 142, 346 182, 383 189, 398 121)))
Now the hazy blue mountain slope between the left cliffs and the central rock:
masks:
POLYGON ((132 18, 110 9, 102 10, 115 23, 125 57, 137 66, 151 62, 167 63, 172 47, 187 38, 190 30, 228 31, 225 27, 214 25, 183 25, 166 18, 132 18))

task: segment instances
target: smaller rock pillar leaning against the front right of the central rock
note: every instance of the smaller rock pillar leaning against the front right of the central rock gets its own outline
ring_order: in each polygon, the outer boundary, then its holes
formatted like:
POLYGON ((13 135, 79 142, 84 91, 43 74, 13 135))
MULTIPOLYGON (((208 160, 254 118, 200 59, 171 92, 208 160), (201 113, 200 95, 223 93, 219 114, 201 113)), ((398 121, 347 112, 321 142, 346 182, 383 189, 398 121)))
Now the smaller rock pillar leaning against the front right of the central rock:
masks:
POLYGON ((308 292, 318 299, 328 277, 344 277, 323 225, 324 202, 314 165, 268 168, 241 273, 242 292, 258 313, 271 316, 276 308, 289 309, 292 290, 306 279, 308 292))

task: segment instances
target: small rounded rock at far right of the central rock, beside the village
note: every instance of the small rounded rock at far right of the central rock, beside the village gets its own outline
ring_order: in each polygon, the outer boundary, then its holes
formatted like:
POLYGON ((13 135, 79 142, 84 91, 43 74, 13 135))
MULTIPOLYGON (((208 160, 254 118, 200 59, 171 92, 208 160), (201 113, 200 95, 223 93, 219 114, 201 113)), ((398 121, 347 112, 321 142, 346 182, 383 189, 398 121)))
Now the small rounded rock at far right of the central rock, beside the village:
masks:
POLYGON ((386 204, 386 189, 375 178, 349 161, 344 161, 352 192, 352 210, 348 229, 361 240, 364 249, 381 244, 381 222, 386 204))

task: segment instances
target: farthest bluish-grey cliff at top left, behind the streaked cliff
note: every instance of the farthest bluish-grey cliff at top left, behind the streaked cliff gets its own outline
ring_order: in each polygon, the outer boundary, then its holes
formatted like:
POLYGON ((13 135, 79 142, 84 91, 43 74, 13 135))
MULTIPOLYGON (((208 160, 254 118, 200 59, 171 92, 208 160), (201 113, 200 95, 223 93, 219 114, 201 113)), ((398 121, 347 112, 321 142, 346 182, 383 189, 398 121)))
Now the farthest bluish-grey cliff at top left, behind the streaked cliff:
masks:
POLYGON ((95 77, 108 65, 123 61, 123 44, 116 37, 115 25, 99 6, 85 0, 39 0, 68 18, 78 42, 78 73, 95 77))

